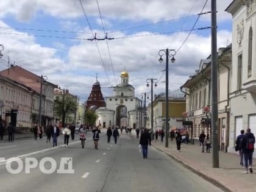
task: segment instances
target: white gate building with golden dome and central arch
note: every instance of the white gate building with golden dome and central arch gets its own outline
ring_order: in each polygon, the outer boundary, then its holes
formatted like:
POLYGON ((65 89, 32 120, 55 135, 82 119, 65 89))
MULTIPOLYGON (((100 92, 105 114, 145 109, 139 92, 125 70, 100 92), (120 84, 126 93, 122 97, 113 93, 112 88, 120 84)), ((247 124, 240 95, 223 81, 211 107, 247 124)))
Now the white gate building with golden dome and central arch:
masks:
POLYGON ((113 87, 113 96, 105 98, 106 107, 96 110, 96 126, 139 127, 138 108, 141 100, 135 97, 135 88, 129 84, 129 74, 123 71, 120 77, 121 84, 113 87))

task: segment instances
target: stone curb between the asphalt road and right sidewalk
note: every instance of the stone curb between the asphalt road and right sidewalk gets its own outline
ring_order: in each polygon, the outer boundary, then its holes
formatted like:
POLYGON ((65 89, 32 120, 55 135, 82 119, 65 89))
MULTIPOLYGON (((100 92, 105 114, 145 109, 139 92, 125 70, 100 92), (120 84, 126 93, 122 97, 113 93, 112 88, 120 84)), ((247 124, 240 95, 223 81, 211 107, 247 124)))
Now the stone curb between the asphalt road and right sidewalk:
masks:
POLYGON ((171 157, 173 160, 175 160, 177 163, 180 163, 181 165, 185 166, 185 168, 189 169, 190 171, 194 172, 195 174, 197 174, 197 176, 202 177, 203 179, 207 180, 208 182, 212 183, 213 185, 215 185, 218 188, 221 188, 221 190, 223 191, 227 191, 227 192, 232 192, 233 190, 226 187, 226 185, 224 185, 223 183, 219 182, 218 180, 214 179, 213 177, 207 176, 207 174, 204 174, 201 171, 198 171, 197 169, 193 168, 193 166, 188 165, 187 163, 183 162, 180 158, 177 158, 175 155, 164 151, 163 149, 158 148, 157 146, 155 146, 155 144, 152 144, 152 146, 154 146, 155 149, 157 149, 158 151, 164 152, 166 155, 168 155, 169 157, 171 157))

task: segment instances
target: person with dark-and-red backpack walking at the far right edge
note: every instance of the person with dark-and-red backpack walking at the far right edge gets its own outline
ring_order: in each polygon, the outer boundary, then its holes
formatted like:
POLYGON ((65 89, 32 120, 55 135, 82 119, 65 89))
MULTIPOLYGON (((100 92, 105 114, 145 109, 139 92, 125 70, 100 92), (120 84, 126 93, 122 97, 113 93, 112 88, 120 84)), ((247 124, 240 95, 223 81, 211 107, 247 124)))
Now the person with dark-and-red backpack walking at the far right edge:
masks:
POLYGON ((254 134, 251 133, 251 129, 248 128, 246 130, 246 133, 244 134, 244 137, 241 141, 241 147, 244 153, 244 173, 248 173, 248 162, 249 162, 249 170, 252 173, 252 156, 254 154, 254 143, 255 143, 255 137, 254 134))

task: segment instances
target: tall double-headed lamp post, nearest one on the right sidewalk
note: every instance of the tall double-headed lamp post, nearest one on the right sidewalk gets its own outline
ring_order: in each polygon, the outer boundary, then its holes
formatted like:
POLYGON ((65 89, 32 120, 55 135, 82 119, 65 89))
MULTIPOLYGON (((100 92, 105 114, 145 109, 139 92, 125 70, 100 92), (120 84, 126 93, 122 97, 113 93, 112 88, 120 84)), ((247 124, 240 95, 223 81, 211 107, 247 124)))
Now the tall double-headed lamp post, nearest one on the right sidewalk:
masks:
POLYGON ((158 52, 158 55, 160 56, 160 59, 158 59, 158 61, 160 63, 163 62, 162 56, 166 55, 166 67, 165 67, 165 147, 168 148, 168 136, 169 136, 169 122, 168 122, 168 118, 169 118, 169 96, 168 96, 168 91, 169 91, 169 68, 168 68, 168 64, 169 64, 169 57, 171 58, 171 62, 174 63, 175 59, 174 59, 174 55, 176 55, 176 51, 174 49, 161 49, 158 52))

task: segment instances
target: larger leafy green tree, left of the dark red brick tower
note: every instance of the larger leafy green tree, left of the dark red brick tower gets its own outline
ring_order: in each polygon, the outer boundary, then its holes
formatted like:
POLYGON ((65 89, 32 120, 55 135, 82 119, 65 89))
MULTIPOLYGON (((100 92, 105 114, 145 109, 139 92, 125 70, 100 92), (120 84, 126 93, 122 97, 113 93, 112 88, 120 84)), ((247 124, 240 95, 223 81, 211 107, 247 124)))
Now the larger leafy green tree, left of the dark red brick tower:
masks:
POLYGON ((76 101, 70 96, 63 95, 62 99, 54 100, 54 113, 62 119, 62 126, 65 126, 65 118, 76 110, 76 101))

